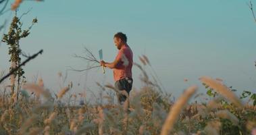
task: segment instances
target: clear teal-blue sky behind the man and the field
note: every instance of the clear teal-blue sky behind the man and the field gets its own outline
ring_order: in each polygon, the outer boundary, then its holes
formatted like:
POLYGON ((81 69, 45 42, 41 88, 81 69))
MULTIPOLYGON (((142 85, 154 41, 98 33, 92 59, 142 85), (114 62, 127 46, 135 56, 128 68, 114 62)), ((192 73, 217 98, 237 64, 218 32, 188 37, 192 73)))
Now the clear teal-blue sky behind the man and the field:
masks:
MULTIPOLYGON (((256 5, 256 1, 253 1, 256 5)), ((72 57, 82 54, 84 46, 95 54, 103 49, 105 61, 112 61, 117 50, 113 34, 124 32, 134 51, 134 61, 147 55, 168 92, 179 95, 191 84, 201 85, 200 76, 222 78, 238 90, 255 90, 256 24, 245 0, 195 1, 96 1, 45 0, 25 1, 19 14, 24 28, 32 18, 39 23, 28 38, 21 41, 26 53, 44 49, 43 55, 24 68, 28 80, 39 72, 45 85, 59 89, 57 72, 67 66, 86 68, 86 63, 72 57), (184 82, 188 78, 188 82, 184 82)), ((256 9, 256 7, 255 7, 256 9)), ((13 16, 11 12, 1 16, 13 16)), ((9 67, 7 46, 0 47, 0 69, 9 67)), ((139 88, 138 70, 134 67, 134 87, 139 88)), ((68 81, 95 88, 94 82, 113 83, 112 72, 101 69, 86 73, 72 72, 68 81)), ((203 89, 201 89, 203 92, 203 89)))

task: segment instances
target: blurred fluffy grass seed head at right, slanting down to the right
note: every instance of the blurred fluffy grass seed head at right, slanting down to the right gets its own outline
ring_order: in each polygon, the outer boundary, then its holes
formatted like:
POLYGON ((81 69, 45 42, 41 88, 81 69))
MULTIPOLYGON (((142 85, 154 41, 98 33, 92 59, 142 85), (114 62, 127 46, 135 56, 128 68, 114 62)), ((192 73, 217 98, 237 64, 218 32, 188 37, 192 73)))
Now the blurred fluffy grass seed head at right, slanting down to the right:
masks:
POLYGON ((201 82, 207 84, 207 86, 213 88, 214 90, 222 94, 222 96, 226 97, 226 99, 234 103, 234 105, 236 105, 237 107, 243 107, 240 99, 238 99, 238 97, 236 97, 236 95, 227 86, 224 86, 217 80, 213 80, 206 76, 201 77, 199 80, 201 80, 201 82))

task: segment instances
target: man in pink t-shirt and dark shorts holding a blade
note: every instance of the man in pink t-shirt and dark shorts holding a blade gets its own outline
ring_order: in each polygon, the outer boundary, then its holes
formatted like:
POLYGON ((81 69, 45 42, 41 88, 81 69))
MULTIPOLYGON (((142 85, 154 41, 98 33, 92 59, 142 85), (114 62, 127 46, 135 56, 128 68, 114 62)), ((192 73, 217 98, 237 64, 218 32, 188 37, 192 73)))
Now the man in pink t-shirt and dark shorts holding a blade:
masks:
POLYGON ((128 94, 132 89, 132 50, 128 46, 126 34, 118 32, 113 36, 113 41, 118 48, 118 55, 116 59, 107 63, 101 61, 101 65, 113 69, 113 78, 116 81, 115 87, 119 92, 117 93, 118 101, 122 105, 128 94), (126 93, 127 92, 127 93, 126 93))

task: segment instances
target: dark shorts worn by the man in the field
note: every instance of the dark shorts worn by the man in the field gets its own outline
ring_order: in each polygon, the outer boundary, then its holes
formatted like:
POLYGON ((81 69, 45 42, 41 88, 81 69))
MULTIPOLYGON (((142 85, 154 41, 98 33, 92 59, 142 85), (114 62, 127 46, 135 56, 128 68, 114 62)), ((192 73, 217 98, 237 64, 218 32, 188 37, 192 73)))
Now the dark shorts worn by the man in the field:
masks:
MULTIPOLYGON (((115 87, 118 90, 126 90, 126 92, 129 94, 130 90, 132 90, 132 78, 123 78, 121 80, 116 81, 115 87)), ((124 94, 118 94, 118 101, 119 103, 122 103, 126 101, 126 96, 124 94)))

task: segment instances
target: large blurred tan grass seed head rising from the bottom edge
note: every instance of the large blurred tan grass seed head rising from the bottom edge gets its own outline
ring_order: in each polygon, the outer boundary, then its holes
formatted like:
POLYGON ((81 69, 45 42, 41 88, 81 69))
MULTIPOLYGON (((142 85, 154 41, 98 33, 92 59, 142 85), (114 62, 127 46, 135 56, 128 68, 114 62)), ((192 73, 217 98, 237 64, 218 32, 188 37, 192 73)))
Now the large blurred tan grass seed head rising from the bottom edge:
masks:
POLYGON ((178 115, 182 111, 182 108, 186 105, 186 103, 188 102, 190 97, 195 93, 196 90, 197 86, 189 87, 176 101, 176 103, 174 103, 174 105, 170 109, 168 117, 165 119, 165 123, 163 124, 163 127, 161 129, 161 135, 169 134, 169 132, 172 130, 172 127, 176 122, 176 119, 178 119, 178 115))

